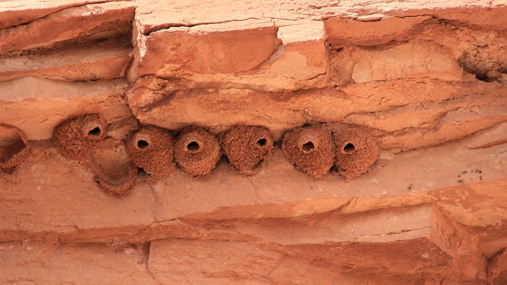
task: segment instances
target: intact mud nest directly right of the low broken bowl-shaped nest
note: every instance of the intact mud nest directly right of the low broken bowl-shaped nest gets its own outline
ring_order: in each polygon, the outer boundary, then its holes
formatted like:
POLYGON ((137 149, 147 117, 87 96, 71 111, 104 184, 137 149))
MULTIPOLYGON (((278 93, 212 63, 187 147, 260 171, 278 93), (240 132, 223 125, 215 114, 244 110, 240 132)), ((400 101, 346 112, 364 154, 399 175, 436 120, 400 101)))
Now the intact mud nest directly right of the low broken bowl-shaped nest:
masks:
POLYGON ((174 139, 166 129, 143 127, 129 136, 126 148, 135 165, 147 173, 167 175, 174 170, 174 139))

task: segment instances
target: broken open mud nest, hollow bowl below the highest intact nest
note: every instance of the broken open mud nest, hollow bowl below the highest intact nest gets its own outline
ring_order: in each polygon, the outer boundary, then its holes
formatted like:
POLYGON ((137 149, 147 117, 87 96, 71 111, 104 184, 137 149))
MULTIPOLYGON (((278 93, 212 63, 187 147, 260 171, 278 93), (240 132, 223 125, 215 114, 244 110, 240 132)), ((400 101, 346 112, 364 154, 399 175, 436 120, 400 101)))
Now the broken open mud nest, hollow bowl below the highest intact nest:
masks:
POLYGON ((125 142, 120 139, 103 140, 87 154, 85 163, 95 174, 95 182, 113 195, 127 193, 137 179, 137 166, 130 160, 125 142))

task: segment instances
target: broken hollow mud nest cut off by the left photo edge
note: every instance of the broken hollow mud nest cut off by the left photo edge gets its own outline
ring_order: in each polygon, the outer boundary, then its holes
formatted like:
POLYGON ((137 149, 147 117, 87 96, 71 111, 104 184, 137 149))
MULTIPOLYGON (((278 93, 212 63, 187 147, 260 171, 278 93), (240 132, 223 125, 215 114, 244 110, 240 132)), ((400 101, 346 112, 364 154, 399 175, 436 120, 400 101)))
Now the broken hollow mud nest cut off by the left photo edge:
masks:
POLYGON ((29 154, 26 134, 15 126, 0 123, 0 171, 14 171, 29 154))

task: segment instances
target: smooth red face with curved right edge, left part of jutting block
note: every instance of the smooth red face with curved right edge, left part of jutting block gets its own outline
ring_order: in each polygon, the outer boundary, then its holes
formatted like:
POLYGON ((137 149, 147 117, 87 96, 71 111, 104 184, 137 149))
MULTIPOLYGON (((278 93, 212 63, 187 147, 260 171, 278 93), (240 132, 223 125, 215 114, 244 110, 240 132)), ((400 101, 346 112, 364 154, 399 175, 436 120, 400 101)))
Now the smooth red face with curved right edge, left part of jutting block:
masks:
POLYGON ((247 72, 266 61, 279 44, 273 23, 266 21, 172 27, 138 43, 138 76, 247 72))

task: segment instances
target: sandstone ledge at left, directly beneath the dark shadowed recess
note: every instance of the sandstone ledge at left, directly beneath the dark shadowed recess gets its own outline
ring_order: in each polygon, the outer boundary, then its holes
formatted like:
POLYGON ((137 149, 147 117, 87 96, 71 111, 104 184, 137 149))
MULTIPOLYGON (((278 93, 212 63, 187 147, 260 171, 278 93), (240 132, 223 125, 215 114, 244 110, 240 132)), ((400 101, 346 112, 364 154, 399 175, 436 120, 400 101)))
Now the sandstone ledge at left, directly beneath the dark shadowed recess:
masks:
POLYGON ((132 49, 107 42, 63 53, 0 58, 0 81, 24 76, 89 81, 125 77, 132 49))

